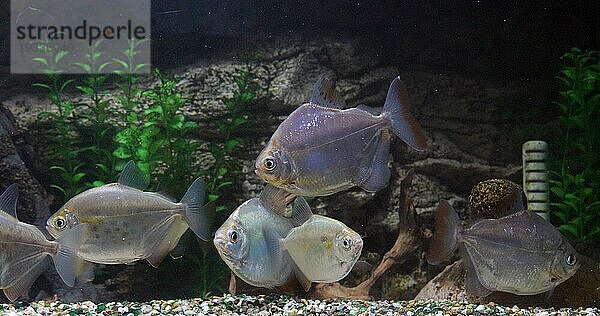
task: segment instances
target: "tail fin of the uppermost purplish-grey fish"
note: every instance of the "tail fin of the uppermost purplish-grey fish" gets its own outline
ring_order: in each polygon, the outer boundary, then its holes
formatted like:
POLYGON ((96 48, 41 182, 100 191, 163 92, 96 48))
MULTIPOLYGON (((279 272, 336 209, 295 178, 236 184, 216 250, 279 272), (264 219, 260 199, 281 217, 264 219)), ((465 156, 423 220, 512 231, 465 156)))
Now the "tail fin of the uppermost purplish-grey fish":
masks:
POLYGON ((427 138, 419 122, 410 114, 410 102, 406 87, 400 77, 394 78, 383 105, 383 114, 387 115, 392 130, 406 144, 416 150, 427 148, 427 138))

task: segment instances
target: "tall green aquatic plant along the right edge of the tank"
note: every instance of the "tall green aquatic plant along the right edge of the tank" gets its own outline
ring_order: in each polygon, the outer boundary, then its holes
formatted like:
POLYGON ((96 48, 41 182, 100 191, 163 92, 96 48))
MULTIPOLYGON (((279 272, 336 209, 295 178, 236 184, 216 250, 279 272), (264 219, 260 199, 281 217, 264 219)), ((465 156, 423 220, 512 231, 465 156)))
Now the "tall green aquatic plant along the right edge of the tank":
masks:
POLYGON ((571 239, 600 242, 600 52, 573 48, 562 56, 562 125, 551 191, 553 219, 571 239))

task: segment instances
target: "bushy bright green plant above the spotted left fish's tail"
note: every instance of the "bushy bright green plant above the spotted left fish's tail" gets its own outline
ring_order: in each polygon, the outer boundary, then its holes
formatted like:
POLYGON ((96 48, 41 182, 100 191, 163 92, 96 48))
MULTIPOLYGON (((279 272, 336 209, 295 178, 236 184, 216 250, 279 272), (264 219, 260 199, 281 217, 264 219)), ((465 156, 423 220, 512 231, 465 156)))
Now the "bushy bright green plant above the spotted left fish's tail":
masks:
POLYGON ((148 178, 162 166, 164 171, 156 175, 158 183, 169 193, 182 195, 187 183, 197 176, 191 172, 197 145, 188 138, 197 124, 180 113, 186 100, 176 91, 175 78, 158 69, 153 75, 159 83, 141 92, 148 107, 140 114, 127 113, 127 125, 115 136, 113 154, 123 160, 134 159, 148 178))

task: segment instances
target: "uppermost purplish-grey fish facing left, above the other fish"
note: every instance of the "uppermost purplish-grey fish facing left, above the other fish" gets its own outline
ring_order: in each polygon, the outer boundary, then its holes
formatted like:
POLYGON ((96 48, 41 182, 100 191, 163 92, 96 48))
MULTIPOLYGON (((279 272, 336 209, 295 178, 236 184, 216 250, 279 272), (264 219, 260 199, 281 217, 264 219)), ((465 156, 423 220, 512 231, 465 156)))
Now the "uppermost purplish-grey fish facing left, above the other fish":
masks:
POLYGON ((417 150, 427 147, 399 77, 379 115, 362 105, 342 110, 338 99, 331 81, 321 77, 310 102, 279 125, 260 153, 256 174, 299 196, 330 195, 353 186, 375 192, 390 178, 390 131, 417 150))

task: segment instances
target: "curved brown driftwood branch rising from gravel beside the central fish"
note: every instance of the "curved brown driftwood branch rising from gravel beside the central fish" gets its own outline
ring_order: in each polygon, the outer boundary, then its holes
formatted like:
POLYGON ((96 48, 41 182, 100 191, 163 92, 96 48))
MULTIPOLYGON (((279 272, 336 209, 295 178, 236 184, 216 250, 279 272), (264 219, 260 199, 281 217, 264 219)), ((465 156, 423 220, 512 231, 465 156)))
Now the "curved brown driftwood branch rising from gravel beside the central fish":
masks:
POLYGON ((345 287, 339 283, 316 283, 313 284, 308 295, 312 298, 350 298, 371 299, 371 288, 387 272, 390 267, 400 262, 403 257, 415 251, 421 244, 421 230, 415 221, 415 208, 408 190, 412 184, 414 170, 410 170, 406 177, 400 182, 400 208, 398 214, 398 238, 394 246, 383 256, 383 259, 371 273, 371 276, 355 287, 345 287))

